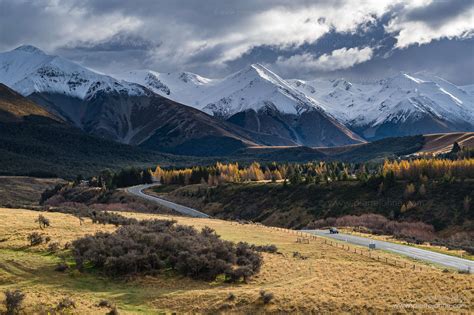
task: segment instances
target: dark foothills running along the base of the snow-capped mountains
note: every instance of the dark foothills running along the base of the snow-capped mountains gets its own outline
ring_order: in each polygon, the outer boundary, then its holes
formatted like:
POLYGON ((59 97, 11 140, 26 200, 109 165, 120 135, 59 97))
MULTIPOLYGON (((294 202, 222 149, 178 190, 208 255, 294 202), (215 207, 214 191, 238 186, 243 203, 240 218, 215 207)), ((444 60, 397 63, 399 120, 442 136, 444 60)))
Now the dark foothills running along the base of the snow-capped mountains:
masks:
MULTIPOLYGON (((203 114, 204 115, 204 114, 203 114)), ((222 148, 208 139, 209 148, 222 148)), ((223 139, 221 139, 223 140, 223 139)), ((212 164, 220 161, 305 162, 337 160, 363 162, 383 160, 416 152, 448 152, 454 142, 474 145, 474 132, 386 138, 355 145, 309 148, 305 146, 234 147, 226 157, 177 156, 117 143, 89 135, 80 128, 46 111, 42 106, 0 83, 0 175, 28 175, 75 178, 96 175, 109 168, 212 164)), ((205 142, 197 138, 190 153, 204 153, 205 142), (197 145, 196 145, 197 143, 197 145)), ((204 154, 203 154, 204 155, 204 154)))

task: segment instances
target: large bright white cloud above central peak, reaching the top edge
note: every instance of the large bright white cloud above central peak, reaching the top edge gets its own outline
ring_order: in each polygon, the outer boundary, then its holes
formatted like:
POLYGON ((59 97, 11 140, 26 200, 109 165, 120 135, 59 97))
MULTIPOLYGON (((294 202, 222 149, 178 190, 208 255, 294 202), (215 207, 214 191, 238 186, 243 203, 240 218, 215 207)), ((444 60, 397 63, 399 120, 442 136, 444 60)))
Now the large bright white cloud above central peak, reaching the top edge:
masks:
POLYGON ((393 1, 379 0, 357 5, 341 1, 337 6, 327 2, 296 8, 277 6, 250 14, 228 32, 218 32, 205 42, 210 47, 225 47, 215 59, 215 63, 224 63, 262 45, 287 48, 314 43, 331 30, 354 32, 358 26, 380 17, 391 4, 393 1))

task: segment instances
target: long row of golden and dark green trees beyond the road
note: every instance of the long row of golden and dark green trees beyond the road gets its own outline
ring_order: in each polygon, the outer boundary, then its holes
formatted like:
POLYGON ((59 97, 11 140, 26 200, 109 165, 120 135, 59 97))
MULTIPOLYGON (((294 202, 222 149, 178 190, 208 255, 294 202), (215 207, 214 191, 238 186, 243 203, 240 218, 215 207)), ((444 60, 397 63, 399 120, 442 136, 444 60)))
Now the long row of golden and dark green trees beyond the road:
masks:
MULTIPOLYGON (((463 149, 459 152, 470 152, 463 149)), ((457 153, 458 155, 460 153, 457 153)), ((457 155, 456 155, 457 156, 457 155)), ((253 162, 219 163, 210 166, 190 168, 149 169, 127 168, 113 173, 101 172, 89 180, 90 186, 107 189, 152 183, 190 185, 207 183, 216 186, 220 183, 242 183, 251 181, 284 181, 292 185, 330 183, 335 181, 357 180, 370 182, 374 179, 396 179, 426 181, 428 179, 474 178, 473 158, 450 159, 423 157, 411 160, 393 160, 380 163, 307 162, 307 163, 267 163, 253 162)), ((385 181, 387 181, 385 180, 385 181)), ((80 183, 81 180, 76 180, 80 183)))

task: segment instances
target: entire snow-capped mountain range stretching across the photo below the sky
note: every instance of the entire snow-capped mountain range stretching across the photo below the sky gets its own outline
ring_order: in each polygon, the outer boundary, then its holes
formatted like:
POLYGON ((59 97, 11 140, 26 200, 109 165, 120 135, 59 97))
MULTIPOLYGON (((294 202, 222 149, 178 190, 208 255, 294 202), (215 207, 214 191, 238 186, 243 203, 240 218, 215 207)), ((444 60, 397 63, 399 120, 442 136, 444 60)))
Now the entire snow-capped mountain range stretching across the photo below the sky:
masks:
POLYGON ((150 70, 109 76, 25 45, 0 53, 0 83, 88 134, 184 155, 474 130, 472 86, 427 73, 303 81, 253 64, 222 79, 150 70))

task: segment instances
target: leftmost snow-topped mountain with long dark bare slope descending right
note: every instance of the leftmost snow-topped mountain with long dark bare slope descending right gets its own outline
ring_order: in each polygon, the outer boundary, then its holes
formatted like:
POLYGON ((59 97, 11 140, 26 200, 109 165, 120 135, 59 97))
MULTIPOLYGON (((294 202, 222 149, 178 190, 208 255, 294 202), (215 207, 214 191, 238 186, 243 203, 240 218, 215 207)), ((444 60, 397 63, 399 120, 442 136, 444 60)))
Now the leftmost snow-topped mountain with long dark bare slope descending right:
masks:
POLYGON ((125 144, 192 154, 193 143, 209 155, 256 145, 229 123, 31 46, 0 54, 0 82, 89 134, 125 144))

